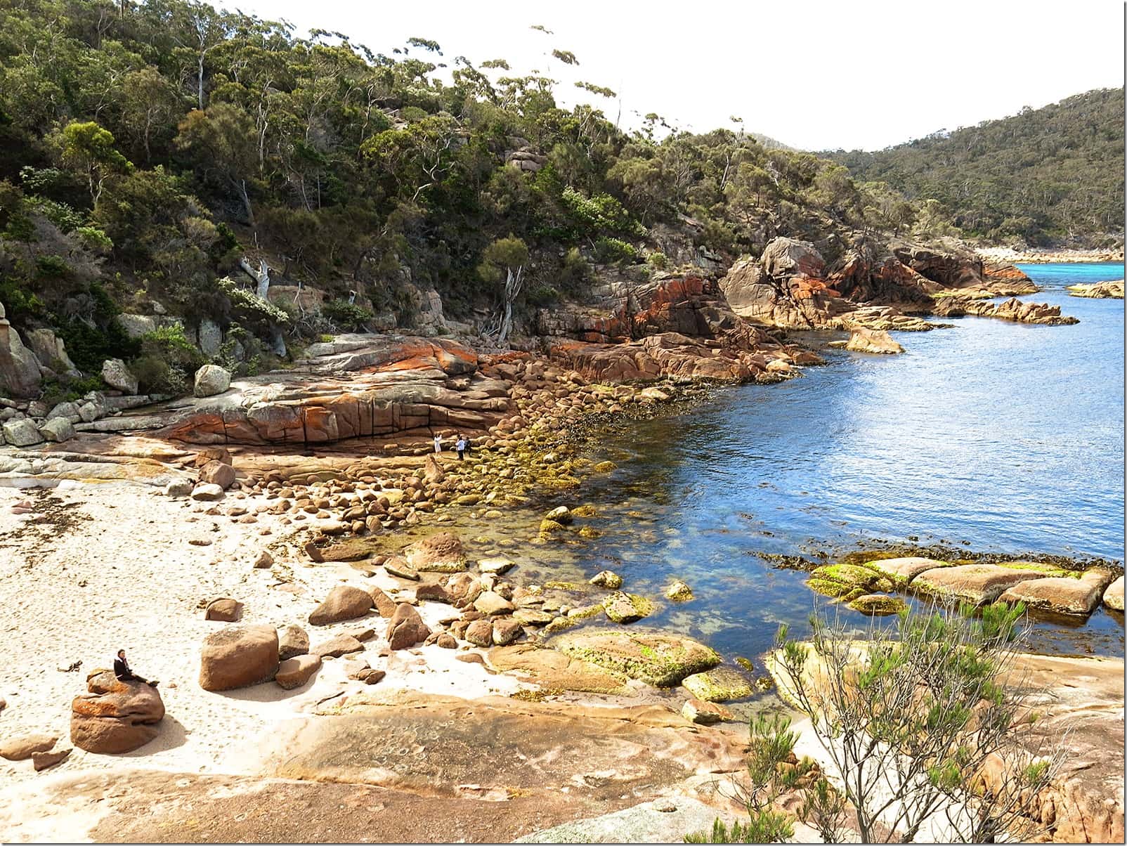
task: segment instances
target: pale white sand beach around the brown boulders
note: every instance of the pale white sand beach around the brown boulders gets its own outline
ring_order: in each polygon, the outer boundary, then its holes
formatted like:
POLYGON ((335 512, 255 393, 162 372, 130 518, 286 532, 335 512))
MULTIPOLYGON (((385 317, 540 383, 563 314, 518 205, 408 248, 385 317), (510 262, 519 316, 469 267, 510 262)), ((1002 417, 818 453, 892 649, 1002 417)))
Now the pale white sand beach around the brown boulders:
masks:
MULTIPOLYGON (((343 689, 364 689, 362 683, 345 679, 340 660, 328 660, 313 682, 298 691, 283 691, 273 682, 221 694, 203 691, 201 643, 207 633, 230 624, 205 621, 201 604, 220 596, 245 604, 240 623, 279 627, 298 623, 314 645, 349 629, 374 629, 376 638, 365 644, 363 657, 387 669, 381 688, 472 698, 521 686, 506 676, 487 674, 480 665, 455 660, 461 650, 427 647, 420 654, 399 651, 380 658, 387 622, 374 612, 331 626, 308 625, 309 613, 335 585, 378 584, 388 589, 402 582, 382 573, 365 578, 347 564, 307 561, 296 554, 294 528, 273 515, 260 514, 258 523, 243 524, 204 514, 212 504, 169 499, 142 486, 74 484, 50 496, 77 504, 70 514, 91 519, 66 532, 52 529, 41 540, 33 528, 36 515, 12 513, 12 505, 24 499, 35 502, 34 496, 0 488, 0 597, 8 609, 6 660, 0 666, 0 696, 8 701, 0 714, 2 737, 51 732, 60 737, 56 748, 70 747, 71 700, 85 693, 89 670, 112 666, 117 649, 127 651, 136 673, 160 679, 167 715, 156 740, 126 755, 74 749, 63 764, 44 773, 33 772, 30 760, 0 759, 0 783, 137 766, 254 773, 259 740, 270 725, 343 689), (260 534, 264 529, 272 534, 260 534), (190 540, 211 543, 197 546, 190 540), (276 562, 273 570, 254 569, 267 546, 276 562), (79 660, 78 671, 61 671, 79 660)), ((219 508, 239 506, 254 513, 265 502, 231 493, 219 508)), ((420 612, 433 620, 450 608, 429 604, 420 612)))

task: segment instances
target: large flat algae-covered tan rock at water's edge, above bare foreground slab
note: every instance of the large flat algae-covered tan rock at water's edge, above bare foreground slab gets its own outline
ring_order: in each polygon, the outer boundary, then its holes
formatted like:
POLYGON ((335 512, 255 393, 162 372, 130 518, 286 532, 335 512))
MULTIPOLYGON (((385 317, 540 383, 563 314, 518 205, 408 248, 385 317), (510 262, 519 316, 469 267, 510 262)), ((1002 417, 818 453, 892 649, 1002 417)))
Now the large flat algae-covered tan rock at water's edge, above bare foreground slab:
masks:
POLYGON ((559 634, 549 644, 655 687, 673 687, 720 664, 720 656, 703 643, 647 629, 585 629, 559 634))

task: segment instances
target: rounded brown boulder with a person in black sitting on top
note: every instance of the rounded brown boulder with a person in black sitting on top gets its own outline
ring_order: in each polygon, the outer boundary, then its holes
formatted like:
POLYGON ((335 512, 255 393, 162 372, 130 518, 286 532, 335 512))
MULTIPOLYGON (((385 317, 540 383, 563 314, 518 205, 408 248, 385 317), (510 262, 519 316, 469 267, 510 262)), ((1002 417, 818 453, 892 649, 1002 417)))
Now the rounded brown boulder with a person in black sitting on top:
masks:
POLYGON ((160 733, 165 703, 156 687, 123 682, 112 670, 95 670, 87 691, 71 703, 71 742, 79 749, 118 755, 139 749, 160 733))

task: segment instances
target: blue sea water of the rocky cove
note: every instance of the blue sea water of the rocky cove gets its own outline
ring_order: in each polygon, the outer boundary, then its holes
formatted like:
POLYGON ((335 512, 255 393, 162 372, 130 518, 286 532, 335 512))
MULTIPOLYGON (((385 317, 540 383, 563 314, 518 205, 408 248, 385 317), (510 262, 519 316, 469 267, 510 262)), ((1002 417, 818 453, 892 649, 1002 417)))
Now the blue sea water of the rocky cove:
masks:
MULTIPOLYGON (((580 554, 584 572, 610 568, 658 596, 682 578, 696 599, 651 622, 756 654, 779 622, 802 631, 814 606, 805 573, 757 552, 919 538, 1122 560, 1124 301, 1063 288, 1124 268, 1022 269, 1044 288, 1027 299, 1081 322, 956 319, 894 333, 904 355, 826 349, 828 365, 801 379, 611 431, 598 455, 619 470, 584 491, 609 518, 593 524, 606 534, 580 554)), ((1082 626, 1037 623, 1033 647, 1122 654, 1122 616, 1100 609, 1082 626)))

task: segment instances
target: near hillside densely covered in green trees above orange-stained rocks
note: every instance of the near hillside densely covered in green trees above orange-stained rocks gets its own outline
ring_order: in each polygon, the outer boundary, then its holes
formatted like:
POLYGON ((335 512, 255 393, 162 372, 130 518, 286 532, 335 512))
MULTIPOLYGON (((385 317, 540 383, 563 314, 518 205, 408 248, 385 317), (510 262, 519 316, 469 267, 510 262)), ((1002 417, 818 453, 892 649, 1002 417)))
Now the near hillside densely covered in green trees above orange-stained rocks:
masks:
POLYGON ((743 131, 657 140, 656 114, 628 134, 553 86, 425 37, 380 54, 186 0, 0 0, 0 303, 81 372, 119 357, 175 392, 204 324, 224 339, 206 355, 245 373, 287 342, 409 324, 435 292, 499 335, 513 273, 520 324, 700 250, 782 234, 832 260, 858 231, 950 232, 935 203, 835 162, 743 131))

